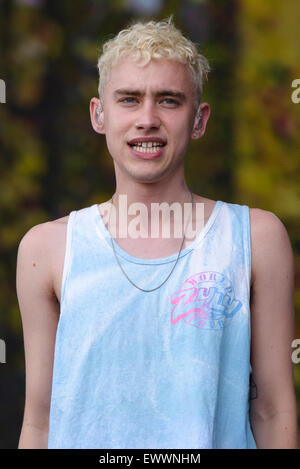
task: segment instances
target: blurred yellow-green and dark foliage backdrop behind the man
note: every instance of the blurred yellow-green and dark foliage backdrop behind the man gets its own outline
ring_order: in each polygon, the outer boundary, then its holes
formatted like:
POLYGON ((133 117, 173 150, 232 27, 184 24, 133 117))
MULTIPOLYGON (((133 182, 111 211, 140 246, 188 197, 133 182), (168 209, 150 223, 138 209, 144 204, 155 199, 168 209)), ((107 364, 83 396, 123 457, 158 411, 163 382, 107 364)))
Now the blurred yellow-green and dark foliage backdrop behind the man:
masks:
MULTIPOLYGON (((293 0, 165 0, 212 66, 204 88, 212 114, 190 146, 186 177, 197 193, 270 210, 290 234, 300 338, 300 4, 293 0)), ((122 0, 0 0, 0 448, 15 448, 25 366, 15 289, 16 254, 32 226, 101 203, 114 190, 105 139, 89 121, 104 40, 139 14, 122 0)), ((291 350, 292 352, 292 350, 291 350)), ((295 366, 300 407, 300 364, 295 366)), ((300 414, 300 409, 299 409, 300 414)))

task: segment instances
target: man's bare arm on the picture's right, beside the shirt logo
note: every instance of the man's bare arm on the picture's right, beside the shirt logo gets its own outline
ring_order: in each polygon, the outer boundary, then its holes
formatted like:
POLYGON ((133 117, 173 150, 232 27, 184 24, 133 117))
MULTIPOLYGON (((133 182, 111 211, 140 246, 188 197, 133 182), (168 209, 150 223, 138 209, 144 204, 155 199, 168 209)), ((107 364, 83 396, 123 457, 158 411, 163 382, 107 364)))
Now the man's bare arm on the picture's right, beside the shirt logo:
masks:
POLYGON ((291 344, 294 339, 294 260, 283 223, 250 209, 251 366, 257 397, 250 401, 259 449, 298 448, 291 344))

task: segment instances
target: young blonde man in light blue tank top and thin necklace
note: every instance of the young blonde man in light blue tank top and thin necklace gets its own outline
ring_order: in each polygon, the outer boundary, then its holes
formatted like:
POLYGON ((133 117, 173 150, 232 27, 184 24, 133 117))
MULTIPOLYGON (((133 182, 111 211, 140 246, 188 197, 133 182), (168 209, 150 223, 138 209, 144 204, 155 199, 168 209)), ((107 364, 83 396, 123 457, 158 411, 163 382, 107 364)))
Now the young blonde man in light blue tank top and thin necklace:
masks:
POLYGON ((91 120, 116 190, 20 243, 19 447, 296 448, 286 229, 273 213, 192 194, 184 178, 210 115, 206 59, 170 21, 149 22, 108 41, 98 66, 91 120), (131 235, 137 203, 144 237, 131 235), (181 238, 175 216, 171 236, 149 234, 155 203, 192 203, 181 238), (187 237, 199 206, 204 224, 187 237))

